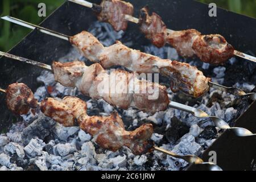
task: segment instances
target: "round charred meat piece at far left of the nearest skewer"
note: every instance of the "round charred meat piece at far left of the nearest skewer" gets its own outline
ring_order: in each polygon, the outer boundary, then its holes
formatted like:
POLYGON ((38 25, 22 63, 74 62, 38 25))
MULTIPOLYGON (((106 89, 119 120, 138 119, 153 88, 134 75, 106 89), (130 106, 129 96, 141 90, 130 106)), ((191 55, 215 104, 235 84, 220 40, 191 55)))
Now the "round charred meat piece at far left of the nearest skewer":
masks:
POLYGON ((30 108, 38 106, 38 101, 27 85, 15 83, 9 85, 6 90, 6 104, 15 114, 27 114, 30 108))

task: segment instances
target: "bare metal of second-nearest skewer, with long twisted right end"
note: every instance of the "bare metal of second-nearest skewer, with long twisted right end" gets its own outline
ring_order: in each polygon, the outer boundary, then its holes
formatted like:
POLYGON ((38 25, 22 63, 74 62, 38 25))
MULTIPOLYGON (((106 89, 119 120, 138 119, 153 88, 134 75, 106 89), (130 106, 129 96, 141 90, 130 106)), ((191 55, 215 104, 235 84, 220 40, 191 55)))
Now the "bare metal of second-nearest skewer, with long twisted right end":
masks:
MULTIPOLYGON (((5 53, 5 52, 1 52, 1 51, 0 51, 0 55, 9 57, 9 58, 14 59, 14 60, 22 61, 23 63, 32 64, 32 65, 38 66, 40 68, 47 69, 48 71, 52 71, 52 68, 51 68, 50 65, 40 63, 38 61, 34 61, 34 60, 26 59, 24 57, 11 55, 10 53, 5 53)), ((187 106, 187 105, 180 104, 180 103, 174 102, 174 101, 171 101, 169 106, 173 107, 174 109, 183 110, 187 113, 192 114, 193 116, 195 116, 197 118, 210 118, 210 119, 212 119, 212 121, 213 121, 213 123, 216 127, 220 128, 220 129, 224 129, 224 130, 225 129, 231 130, 238 137, 249 137, 249 136, 256 135, 256 134, 251 133, 251 131, 249 131, 247 129, 244 129, 244 128, 241 128, 241 127, 230 127, 228 125, 228 123, 226 123, 223 119, 218 118, 218 117, 214 117, 214 116, 210 116, 207 113, 205 113, 203 110, 197 109, 195 107, 187 106)))

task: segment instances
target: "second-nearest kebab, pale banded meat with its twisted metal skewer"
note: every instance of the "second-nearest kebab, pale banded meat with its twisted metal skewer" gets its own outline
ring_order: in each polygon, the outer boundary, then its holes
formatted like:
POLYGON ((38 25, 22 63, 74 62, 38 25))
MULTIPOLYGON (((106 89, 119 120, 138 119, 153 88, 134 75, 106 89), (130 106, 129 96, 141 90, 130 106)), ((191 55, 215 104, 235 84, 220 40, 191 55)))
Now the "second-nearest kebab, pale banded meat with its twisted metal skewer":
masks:
POLYGON ((122 70, 114 71, 114 76, 117 76, 117 82, 115 83, 117 83, 118 88, 121 88, 121 91, 129 90, 130 88, 132 88, 132 90, 125 93, 111 93, 111 88, 109 88, 110 85, 106 85, 107 89, 103 89, 102 87, 102 85, 105 86, 106 82, 110 82, 109 79, 111 76, 106 73, 104 68, 102 68, 98 63, 90 65, 90 67, 86 67, 85 63, 80 61, 73 61, 69 63, 59 63, 54 61, 51 68, 50 65, 11 55, 9 53, 0 51, 0 55, 22 61, 24 63, 36 65, 37 67, 47 69, 48 71, 53 71, 55 80, 60 82, 60 84, 69 87, 77 87, 82 94, 96 99, 102 98, 106 102, 109 102, 109 104, 118 106, 121 109, 127 109, 127 107, 133 106, 143 111, 155 113, 156 111, 165 110, 167 109, 167 106, 170 106, 175 109, 183 110, 198 118, 210 118, 216 127, 233 131, 238 137, 255 135, 251 133, 251 131, 241 127, 230 127, 223 119, 210 116, 195 107, 169 101, 166 86, 158 85, 147 80, 138 80, 134 73, 128 74, 128 72, 122 70), (130 78, 133 78, 133 80, 130 78), (133 86, 129 85, 130 82, 133 86), (137 89, 134 90, 134 88, 137 89), (105 90, 106 92, 99 92, 99 90, 105 90), (148 92, 148 90, 151 91, 148 92), (150 97, 155 96, 155 93, 158 94, 157 98, 150 97))

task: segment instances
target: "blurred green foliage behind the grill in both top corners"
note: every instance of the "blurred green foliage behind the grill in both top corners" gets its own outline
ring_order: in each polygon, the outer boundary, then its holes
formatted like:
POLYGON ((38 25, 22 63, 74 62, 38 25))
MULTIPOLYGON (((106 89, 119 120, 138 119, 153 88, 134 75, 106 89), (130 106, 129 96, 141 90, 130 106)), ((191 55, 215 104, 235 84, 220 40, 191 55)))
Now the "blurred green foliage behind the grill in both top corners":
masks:
MULTIPOLYGON (((214 2, 217 6, 256 18, 256 0, 197 0, 204 3, 214 2)), ((38 24, 44 18, 38 16, 38 4, 46 3, 47 16, 59 7, 64 0, 1 0, 0 15, 11 15, 27 22, 38 24)), ((0 20, 0 50, 8 51, 30 32, 28 28, 0 20)))

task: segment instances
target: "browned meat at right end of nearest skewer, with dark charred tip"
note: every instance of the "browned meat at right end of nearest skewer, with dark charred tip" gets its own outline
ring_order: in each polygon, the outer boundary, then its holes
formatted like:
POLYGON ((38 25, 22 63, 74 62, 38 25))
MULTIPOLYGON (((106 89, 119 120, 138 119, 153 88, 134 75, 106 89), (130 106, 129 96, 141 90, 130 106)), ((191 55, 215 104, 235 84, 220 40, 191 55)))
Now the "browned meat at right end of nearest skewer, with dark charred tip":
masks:
POLYGON ((153 133, 151 124, 144 124, 134 131, 126 131, 122 119, 117 113, 109 117, 80 118, 80 127, 94 137, 103 148, 117 151, 122 146, 127 146, 133 154, 140 155, 151 152, 153 142, 150 137, 153 133))

